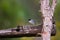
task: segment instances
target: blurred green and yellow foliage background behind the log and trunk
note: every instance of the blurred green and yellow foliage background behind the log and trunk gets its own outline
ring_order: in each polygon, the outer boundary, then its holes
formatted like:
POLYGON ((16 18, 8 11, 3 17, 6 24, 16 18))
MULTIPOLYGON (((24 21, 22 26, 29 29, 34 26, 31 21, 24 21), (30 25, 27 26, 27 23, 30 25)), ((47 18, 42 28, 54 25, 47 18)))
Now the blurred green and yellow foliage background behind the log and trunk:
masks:
MULTIPOLYGON (((0 29, 16 27, 17 25, 31 25, 28 19, 41 23, 39 0, 0 0, 0 29)), ((57 34, 51 40, 60 40, 60 0, 57 0, 54 12, 57 34)), ((34 37, 0 38, 0 40, 34 40, 34 37)))

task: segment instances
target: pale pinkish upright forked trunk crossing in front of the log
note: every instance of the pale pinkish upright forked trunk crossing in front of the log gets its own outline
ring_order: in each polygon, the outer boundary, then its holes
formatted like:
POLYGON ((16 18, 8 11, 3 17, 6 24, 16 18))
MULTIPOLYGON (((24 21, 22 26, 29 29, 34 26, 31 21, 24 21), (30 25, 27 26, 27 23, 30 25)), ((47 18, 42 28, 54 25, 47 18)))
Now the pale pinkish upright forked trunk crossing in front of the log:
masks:
POLYGON ((41 12, 43 17, 43 29, 42 29, 42 40, 50 40, 51 29, 52 29, 52 17, 54 13, 57 0, 52 0, 52 5, 50 6, 50 0, 40 0, 41 12))

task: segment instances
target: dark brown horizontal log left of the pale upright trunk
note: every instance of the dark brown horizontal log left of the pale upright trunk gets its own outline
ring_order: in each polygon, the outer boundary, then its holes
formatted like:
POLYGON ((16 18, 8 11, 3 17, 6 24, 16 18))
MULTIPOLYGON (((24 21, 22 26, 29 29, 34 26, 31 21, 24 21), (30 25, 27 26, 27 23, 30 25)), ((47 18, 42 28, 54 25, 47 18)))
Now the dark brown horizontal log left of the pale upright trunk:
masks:
POLYGON ((0 30, 1 37, 32 37, 41 36, 42 26, 20 26, 18 28, 10 28, 6 30, 0 30), (19 30, 19 31, 17 31, 19 30))

